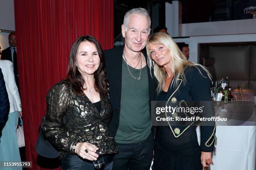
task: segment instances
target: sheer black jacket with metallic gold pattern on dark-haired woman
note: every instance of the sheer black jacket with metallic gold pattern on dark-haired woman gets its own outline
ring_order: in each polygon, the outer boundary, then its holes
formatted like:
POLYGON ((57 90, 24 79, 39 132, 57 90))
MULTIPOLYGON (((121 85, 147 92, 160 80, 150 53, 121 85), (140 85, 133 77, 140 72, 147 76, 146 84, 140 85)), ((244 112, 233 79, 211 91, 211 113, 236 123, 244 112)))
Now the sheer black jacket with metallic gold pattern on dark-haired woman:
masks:
POLYGON ((44 134, 60 158, 73 154, 74 142, 99 143, 102 153, 118 153, 115 139, 108 130, 112 107, 108 96, 100 96, 101 112, 83 93, 72 92, 69 80, 61 80, 51 87, 47 96, 47 111, 41 122, 44 134))

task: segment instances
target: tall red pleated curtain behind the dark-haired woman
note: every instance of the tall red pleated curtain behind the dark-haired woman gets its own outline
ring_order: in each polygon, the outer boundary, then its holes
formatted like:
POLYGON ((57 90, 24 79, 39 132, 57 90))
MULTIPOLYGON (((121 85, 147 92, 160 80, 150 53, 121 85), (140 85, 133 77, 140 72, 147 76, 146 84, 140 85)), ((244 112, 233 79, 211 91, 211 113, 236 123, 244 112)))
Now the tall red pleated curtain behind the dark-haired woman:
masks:
POLYGON ((66 77, 69 52, 81 35, 92 35, 103 49, 113 47, 113 0, 14 0, 20 96, 26 157, 43 169, 35 152, 45 96, 66 77))

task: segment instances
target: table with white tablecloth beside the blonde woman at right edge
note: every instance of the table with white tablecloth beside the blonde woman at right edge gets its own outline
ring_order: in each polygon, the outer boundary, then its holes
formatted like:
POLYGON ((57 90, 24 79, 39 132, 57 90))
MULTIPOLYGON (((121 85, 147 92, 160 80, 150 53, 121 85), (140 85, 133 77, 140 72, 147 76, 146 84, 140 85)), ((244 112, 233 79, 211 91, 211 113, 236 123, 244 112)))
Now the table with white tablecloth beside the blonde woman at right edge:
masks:
MULTIPOLYGON (((254 100, 252 93, 245 96, 250 101, 254 100)), ((255 117, 254 110, 250 120, 255 120, 255 117)), ((200 138, 199 128, 197 133, 200 138)), ((217 125, 216 136, 218 142, 212 153, 214 165, 210 166, 210 170, 256 170, 255 121, 247 121, 239 126, 217 125)))

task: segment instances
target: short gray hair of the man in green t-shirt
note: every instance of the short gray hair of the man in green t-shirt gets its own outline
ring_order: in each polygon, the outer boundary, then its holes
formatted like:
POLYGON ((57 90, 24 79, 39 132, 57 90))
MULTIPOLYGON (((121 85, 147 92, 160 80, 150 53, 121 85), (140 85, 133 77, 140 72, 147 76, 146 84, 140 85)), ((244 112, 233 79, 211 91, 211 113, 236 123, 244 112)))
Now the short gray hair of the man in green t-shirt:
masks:
POLYGON ((132 14, 139 14, 139 15, 144 15, 145 17, 148 18, 148 27, 150 29, 150 25, 151 25, 151 19, 150 16, 148 14, 148 11, 144 8, 138 7, 138 8, 133 8, 131 10, 129 10, 127 13, 125 13, 125 17, 123 18, 123 25, 125 27, 125 31, 127 30, 127 24, 129 22, 130 16, 132 14))

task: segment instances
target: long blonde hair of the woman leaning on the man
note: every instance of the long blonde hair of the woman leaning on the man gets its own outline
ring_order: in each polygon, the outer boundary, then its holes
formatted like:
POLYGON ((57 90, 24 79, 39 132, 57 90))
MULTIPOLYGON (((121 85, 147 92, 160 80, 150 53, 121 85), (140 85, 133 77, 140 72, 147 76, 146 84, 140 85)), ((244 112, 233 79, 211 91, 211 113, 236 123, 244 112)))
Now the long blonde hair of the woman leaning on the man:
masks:
MULTIPOLYGON (((164 70, 164 67, 159 67, 159 65, 157 65, 154 62, 154 60, 152 60, 151 53, 149 51, 150 43, 154 45, 164 45, 169 50, 171 55, 171 62, 170 62, 171 72, 174 75, 174 87, 178 86, 178 79, 182 79, 183 82, 186 83, 186 78, 184 75, 184 69, 186 66, 195 66, 199 70, 201 75, 202 75, 202 72, 198 67, 202 67, 202 69, 207 73, 210 80, 212 80, 210 72, 204 66, 187 60, 187 58, 179 50, 179 47, 174 42, 172 37, 170 37, 168 34, 164 32, 157 32, 148 38, 148 42, 146 44, 146 50, 148 55, 148 61, 147 61, 148 66, 149 66, 150 72, 152 69, 154 69, 154 76, 158 81, 158 85, 156 89, 157 94, 159 94, 159 92, 161 92, 164 88, 164 80, 166 78, 167 73, 164 70)), ((202 76, 205 77, 204 75, 202 76)))

